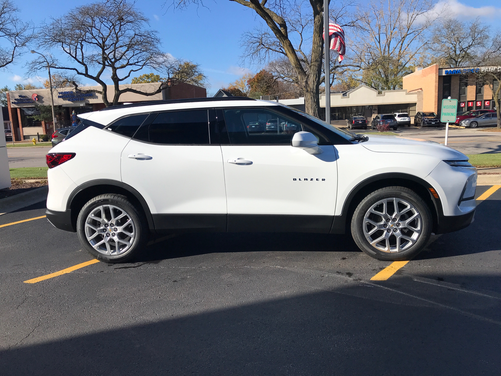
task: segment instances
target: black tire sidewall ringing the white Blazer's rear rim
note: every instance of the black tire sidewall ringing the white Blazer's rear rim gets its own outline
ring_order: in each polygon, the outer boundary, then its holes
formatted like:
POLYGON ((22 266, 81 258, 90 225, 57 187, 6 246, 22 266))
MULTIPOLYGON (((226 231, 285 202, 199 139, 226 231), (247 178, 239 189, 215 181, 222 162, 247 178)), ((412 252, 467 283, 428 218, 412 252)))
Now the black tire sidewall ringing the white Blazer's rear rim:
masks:
MULTIPOLYGON (((117 196, 117 195, 113 195, 117 196)), ((117 200, 116 198, 99 198, 96 200, 96 198, 90 200, 88 203, 84 205, 82 210, 80 211, 77 219, 77 233, 78 237, 80 238, 80 242, 84 246, 84 248, 92 254, 94 257, 96 257, 98 260, 107 262, 107 263, 118 263, 118 262, 124 262, 126 260, 129 260, 132 258, 138 251, 138 249, 142 248, 144 245, 144 238, 146 238, 145 232, 145 227, 144 227, 144 220, 141 219, 140 214, 138 213, 137 209, 130 205, 128 202, 123 202, 121 200, 117 200), (125 252, 117 256, 112 256, 112 255, 104 255, 98 251, 96 251, 90 244, 89 241, 87 240, 87 237, 85 235, 85 222, 87 220, 87 217, 89 216, 90 212, 96 209, 97 207, 101 205, 113 205, 116 206, 122 210, 124 210, 132 219, 132 222, 134 223, 134 228, 136 231, 136 236, 134 238, 134 241, 132 242, 132 246, 125 252)))

